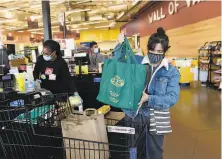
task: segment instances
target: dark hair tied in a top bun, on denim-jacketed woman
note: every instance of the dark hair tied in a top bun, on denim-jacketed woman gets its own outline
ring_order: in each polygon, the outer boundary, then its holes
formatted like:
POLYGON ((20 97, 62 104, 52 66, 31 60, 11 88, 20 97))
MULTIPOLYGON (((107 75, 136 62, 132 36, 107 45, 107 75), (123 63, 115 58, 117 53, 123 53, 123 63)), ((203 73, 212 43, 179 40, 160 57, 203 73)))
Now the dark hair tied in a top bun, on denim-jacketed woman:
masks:
POLYGON ((147 48, 148 50, 153 50, 156 46, 156 44, 161 43, 164 52, 166 52, 169 47, 169 38, 165 34, 165 31, 163 28, 158 28, 157 32, 152 34, 148 40, 147 48))

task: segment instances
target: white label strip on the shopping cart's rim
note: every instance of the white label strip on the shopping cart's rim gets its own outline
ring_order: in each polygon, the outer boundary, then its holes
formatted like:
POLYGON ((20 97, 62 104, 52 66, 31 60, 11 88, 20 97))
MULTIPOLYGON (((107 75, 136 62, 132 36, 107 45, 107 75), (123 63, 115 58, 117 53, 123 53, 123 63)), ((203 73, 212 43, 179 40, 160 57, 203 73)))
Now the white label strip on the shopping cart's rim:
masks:
POLYGON ((115 132, 120 134, 135 134, 135 128, 121 127, 121 126, 108 126, 108 132, 115 132))

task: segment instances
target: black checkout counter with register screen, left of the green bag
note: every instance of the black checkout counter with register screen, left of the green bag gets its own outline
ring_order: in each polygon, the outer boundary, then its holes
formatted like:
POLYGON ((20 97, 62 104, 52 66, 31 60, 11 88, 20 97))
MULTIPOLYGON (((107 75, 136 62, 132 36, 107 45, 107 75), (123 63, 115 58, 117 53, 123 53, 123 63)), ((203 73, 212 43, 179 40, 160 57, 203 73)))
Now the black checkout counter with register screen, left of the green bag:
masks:
MULTIPOLYGON (((103 103, 97 101, 97 95, 99 94, 100 81, 102 73, 88 72, 88 66, 90 60, 87 53, 74 54, 76 61, 76 76, 73 76, 73 80, 76 82, 76 87, 79 95, 83 99, 83 109, 86 108, 100 108, 103 103)), ((102 72, 102 65, 99 65, 99 72, 102 72)), ((111 108, 112 111, 120 112, 121 109, 111 108)))

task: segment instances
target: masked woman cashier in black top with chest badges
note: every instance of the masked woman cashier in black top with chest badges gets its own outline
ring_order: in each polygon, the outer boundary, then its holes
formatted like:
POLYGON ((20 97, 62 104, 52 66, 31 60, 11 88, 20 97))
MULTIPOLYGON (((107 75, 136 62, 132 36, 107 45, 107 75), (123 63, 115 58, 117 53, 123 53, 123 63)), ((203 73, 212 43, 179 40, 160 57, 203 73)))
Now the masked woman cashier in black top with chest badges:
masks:
POLYGON ((36 62, 33 75, 34 79, 40 82, 41 88, 53 94, 78 94, 67 63, 61 56, 60 45, 54 40, 44 42, 43 53, 36 62))

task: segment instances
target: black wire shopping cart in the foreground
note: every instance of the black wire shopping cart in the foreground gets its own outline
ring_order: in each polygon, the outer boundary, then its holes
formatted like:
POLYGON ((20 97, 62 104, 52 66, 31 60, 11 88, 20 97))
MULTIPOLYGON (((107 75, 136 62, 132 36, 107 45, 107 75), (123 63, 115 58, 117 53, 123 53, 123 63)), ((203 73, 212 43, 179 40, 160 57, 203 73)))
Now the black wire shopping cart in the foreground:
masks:
POLYGON ((24 106, 6 104, 0 110, 0 144, 6 159, 146 158, 145 125, 105 119, 109 143, 66 138, 61 120, 74 113, 68 95, 25 98, 28 102, 24 106), (116 133, 112 126, 130 127, 135 133, 116 133))

